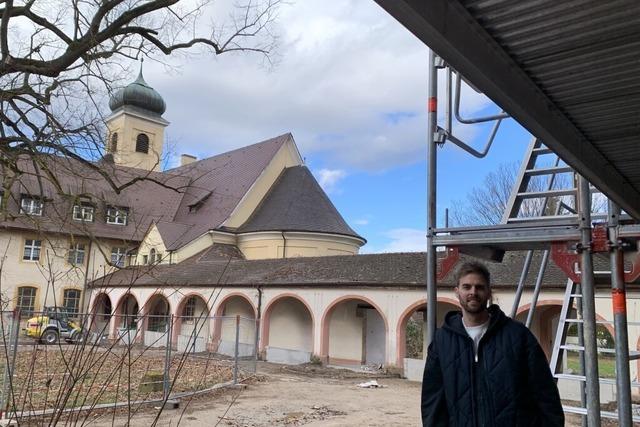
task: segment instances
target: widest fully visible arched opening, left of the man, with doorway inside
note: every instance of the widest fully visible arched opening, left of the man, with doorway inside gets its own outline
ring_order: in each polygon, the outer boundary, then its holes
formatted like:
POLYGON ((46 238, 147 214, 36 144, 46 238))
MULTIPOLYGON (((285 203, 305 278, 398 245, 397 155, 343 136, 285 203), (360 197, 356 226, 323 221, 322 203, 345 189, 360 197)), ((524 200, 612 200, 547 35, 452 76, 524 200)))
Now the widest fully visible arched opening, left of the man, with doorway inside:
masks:
POLYGON ((372 301, 343 297, 323 316, 322 356, 332 365, 384 365, 387 330, 384 315, 372 301))

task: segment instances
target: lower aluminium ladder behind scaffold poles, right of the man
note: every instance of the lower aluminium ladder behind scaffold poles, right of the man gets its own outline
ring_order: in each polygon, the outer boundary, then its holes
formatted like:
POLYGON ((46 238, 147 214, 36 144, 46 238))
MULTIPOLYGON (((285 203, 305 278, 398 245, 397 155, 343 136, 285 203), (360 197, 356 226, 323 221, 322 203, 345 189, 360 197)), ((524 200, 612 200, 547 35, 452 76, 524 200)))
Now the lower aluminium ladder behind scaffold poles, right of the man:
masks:
MULTIPOLYGON (((562 303, 562 309, 560 311, 560 317, 558 319, 558 328, 556 331, 556 338, 553 344, 553 352, 551 355, 551 372, 557 380, 571 381, 580 385, 580 397, 581 406, 563 405, 565 413, 574 413, 580 415, 586 415, 587 410, 584 405, 584 384, 586 377, 584 375, 583 366, 583 352, 584 346, 582 343, 582 313, 581 313, 582 294, 580 291, 580 284, 569 279, 567 281, 567 287, 564 294, 562 303), (569 328, 575 325, 577 330, 578 342, 570 343, 567 341, 569 328), (577 353, 580 361, 578 372, 572 372, 566 366, 567 353, 577 353), (565 362, 565 363, 563 363, 565 362)), ((613 325, 613 321, 598 320, 598 325, 613 325)), ((640 325, 640 322, 628 322, 629 325, 640 325)), ((598 353, 603 355, 614 355, 615 350, 611 348, 598 347, 598 353)), ((640 352, 630 351, 629 362, 632 360, 640 359, 640 352)), ((599 382, 601 385, 616 385, 615 378, 600 377, 599 382)), ((632 381, 631 387, 640 387, 640 382, 632 381)), ((609 419, 618 419, 618 413, 613 411, 600 411, 600 416, 609 419)), ((633 415, 633 422, 640 422, 640 415, 633 415)))

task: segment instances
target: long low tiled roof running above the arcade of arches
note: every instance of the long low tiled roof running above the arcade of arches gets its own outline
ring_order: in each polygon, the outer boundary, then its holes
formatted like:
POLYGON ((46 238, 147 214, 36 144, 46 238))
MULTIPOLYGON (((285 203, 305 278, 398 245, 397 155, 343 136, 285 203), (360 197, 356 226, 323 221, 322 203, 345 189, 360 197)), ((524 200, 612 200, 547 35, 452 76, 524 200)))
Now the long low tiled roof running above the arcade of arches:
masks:
MULTIPOLYGON (((540 264, 534 256, 526 286, 533 286, 540 264)), ((463 257, 470 259, 470 257, 463 257)), ((502 263, 487 263, 494 288, 514 288, 520 277, 524 253, 510 252, 502 263)), ((328 257, 203 262, 194 256, 185 262, 154 267, 130 267, 93 282, 104 286, 399 286, 425 284, 424 253, 386 253, 328 257)), ((453 286, 450 272, 438 286, 453 286)), ((546 288, 564 288, 567 278, 553 263, 544 276, 546 288)))

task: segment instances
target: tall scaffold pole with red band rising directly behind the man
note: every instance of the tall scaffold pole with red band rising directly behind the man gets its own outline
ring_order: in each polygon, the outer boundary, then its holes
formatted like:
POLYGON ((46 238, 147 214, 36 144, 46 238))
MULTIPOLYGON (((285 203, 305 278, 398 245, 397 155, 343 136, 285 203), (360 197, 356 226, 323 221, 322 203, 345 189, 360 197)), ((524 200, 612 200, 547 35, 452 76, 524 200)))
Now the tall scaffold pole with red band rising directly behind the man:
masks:
POLYGON ((429 89, 427 101, 427 345, 436 332, 436 139, 438 119, 438 76, 436 54, 429 50, 429 89))

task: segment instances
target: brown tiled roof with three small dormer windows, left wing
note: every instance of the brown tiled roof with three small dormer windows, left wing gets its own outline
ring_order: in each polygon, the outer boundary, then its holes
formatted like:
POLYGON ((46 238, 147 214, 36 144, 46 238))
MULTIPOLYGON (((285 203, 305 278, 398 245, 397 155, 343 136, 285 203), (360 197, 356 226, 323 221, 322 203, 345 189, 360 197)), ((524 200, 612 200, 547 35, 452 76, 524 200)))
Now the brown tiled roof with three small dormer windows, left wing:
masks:
POLYGON ((26 157, 19 160, 24 174, 11 187, 1 227, 137 241, 152 222, 171 220, 175 216, 189 184, 188 177, 171 173, 97 163, 116 186, 130 184, 118 194, 102 174, 80 161, 56 156, 43 156, 40 160, 48 172, 42 171, 42 166, 36 172, 26 157), (153 197, 149 197, 150 194, 153 197), (23 195, 44 199, 42 216, 20 214, 23 195), (93 222, 72 219, 73 205, 83 201, 95 206, 93 222), (107 206, 128 208, 127 224, 107 224, 107 206))

